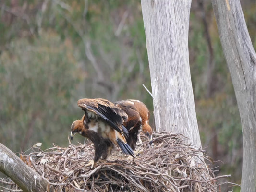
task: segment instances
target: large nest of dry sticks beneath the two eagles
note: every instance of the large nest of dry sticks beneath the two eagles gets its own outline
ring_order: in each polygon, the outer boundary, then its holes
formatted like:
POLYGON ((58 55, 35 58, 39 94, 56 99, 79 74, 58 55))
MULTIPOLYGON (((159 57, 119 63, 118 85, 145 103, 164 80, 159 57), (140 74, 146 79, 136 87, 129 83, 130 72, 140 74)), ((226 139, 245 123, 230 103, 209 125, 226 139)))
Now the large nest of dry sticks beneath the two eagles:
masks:
MULTIPOLYGON (((205 164, 209 158, 202 150, 184 142, 183 136, 167 132, 153 133, 153 146, 145 137, 137 144, 136 158, 113 149, 108 160, 99 160, 94 168, 85 167, 94 157, 90 141, 39 149, 22 159, 49 182, 47 191, 56 192, 202 192, 218 191, 219 178, 205 164)), ((11 182, 6 180, 11 185, 11 182)), ((11 188, 17 191, 13 185, 11 188)), ((10 188, 10 189, 11 189, 10 188)))

